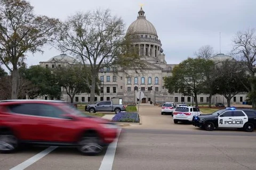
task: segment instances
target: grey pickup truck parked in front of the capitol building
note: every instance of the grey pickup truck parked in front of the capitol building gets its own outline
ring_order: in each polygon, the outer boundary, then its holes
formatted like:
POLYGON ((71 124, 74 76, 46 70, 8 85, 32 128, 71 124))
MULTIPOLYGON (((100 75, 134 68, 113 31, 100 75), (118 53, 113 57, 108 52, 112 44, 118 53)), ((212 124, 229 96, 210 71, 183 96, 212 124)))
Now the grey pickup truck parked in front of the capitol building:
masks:
POLYGON ((86 105, 85 111, 90 113, 95 112, 115 112, 125 111, 125 105, 114 105, 112 101, 100 101, 97 104, 86 105))

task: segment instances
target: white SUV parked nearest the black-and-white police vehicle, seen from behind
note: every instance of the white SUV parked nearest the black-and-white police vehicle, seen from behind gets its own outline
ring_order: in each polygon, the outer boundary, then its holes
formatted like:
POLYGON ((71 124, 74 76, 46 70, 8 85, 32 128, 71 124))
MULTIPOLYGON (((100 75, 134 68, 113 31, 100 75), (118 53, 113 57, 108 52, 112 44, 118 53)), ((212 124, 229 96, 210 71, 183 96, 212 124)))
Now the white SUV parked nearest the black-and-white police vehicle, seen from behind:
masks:
POLYGON ((173 122, 192 122, 193 116, 201 115, 200 111, 193 106, 176 107, 173 112, 173 122))

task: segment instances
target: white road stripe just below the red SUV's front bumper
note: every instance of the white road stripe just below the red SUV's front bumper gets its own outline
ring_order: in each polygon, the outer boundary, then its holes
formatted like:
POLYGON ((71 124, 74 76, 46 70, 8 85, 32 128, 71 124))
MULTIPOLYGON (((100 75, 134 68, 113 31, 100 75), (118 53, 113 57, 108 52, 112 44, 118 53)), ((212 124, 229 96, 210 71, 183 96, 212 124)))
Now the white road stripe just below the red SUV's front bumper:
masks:
POLYGON ((108 149, 107 149, 106 154, 101 162, 99 170, 111 170, 112 169, 115 154, 116 154, 117 141, 118 141, 119 135, 121 133, 121 130, 122 129, 118 130, 117 137, 116 137, 115 141, 110 143, 110 145, 108 146, 108 149))

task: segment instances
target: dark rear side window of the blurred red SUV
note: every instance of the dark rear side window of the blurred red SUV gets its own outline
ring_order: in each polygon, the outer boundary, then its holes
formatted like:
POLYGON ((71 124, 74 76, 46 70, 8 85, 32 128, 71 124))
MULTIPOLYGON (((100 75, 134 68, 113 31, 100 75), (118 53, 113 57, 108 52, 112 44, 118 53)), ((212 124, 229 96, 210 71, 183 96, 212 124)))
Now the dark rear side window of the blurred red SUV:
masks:
POLYGON ((25 115, 39 115, 39 106, 38 104, 17 104, 17 105, 10 105, 9 109, 13 113, 18 114, 25 114, 25 115))

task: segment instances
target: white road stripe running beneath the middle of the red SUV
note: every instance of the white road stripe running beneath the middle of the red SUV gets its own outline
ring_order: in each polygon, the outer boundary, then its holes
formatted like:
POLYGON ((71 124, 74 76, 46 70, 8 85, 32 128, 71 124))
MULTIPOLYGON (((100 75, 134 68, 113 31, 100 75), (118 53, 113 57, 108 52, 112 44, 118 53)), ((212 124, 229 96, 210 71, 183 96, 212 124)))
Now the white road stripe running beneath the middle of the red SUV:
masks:
POLYGON ((35 156, 25 160, 25 162, 11 168, 10 170, 22 170, 27 168, 28 166, 34 164, 35 162, 37 162, 37 160, 42 159, 44 156, 46 156, 47 154, 49 154, 51 151, 53 151, 54 149, 56 149, 58 147, 49 147, 45 150, 43 150, 42 152, 39 152, 38 154, 36 154, 35 156))

